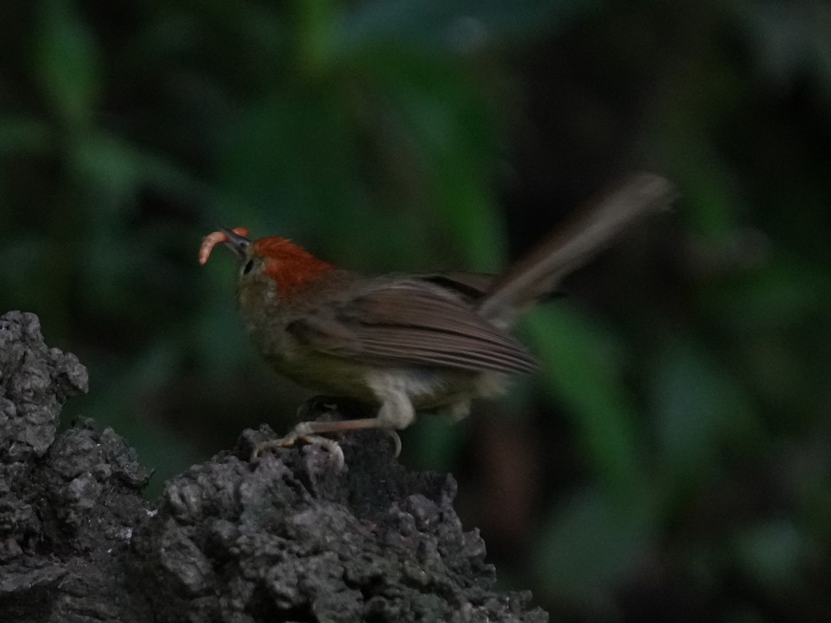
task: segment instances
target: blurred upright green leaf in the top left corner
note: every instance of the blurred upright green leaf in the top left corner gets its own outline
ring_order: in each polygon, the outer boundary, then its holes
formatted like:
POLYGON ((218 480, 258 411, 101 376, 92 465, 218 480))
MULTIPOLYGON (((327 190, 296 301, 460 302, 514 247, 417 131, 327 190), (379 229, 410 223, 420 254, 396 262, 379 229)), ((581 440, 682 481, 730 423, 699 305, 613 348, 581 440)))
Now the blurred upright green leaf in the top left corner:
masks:
POLYGON ((42 2, 35 70, 61 120, 89 125, 101 91, 101 53, 72 0, 42 2))

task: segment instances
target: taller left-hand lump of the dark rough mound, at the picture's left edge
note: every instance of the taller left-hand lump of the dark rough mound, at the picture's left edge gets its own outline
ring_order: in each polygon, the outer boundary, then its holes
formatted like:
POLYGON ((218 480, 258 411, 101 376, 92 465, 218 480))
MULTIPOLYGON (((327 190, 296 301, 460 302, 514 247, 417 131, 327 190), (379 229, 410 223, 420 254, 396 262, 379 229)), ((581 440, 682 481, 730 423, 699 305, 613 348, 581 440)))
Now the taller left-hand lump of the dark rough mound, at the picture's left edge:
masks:
POLYGON ((86 387, 37 316, 0 317, 0 621, 152 620, 124 562, 149 473, 89 420, 56 435, 61 405, 86 387))

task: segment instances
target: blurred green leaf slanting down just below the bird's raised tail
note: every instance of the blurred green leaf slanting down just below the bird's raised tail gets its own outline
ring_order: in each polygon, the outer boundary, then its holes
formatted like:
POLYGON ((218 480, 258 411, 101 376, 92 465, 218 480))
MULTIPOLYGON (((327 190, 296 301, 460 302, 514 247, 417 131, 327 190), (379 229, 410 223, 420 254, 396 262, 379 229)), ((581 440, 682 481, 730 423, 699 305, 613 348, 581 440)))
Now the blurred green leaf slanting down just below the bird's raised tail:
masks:
POLYGON ((543 386, 568 405, 597 477, 618 498, 637 495, 644 483, 637 411, 622 385, 611 337, 559 303, 529 313, 523 326, 545 365, 543 386))

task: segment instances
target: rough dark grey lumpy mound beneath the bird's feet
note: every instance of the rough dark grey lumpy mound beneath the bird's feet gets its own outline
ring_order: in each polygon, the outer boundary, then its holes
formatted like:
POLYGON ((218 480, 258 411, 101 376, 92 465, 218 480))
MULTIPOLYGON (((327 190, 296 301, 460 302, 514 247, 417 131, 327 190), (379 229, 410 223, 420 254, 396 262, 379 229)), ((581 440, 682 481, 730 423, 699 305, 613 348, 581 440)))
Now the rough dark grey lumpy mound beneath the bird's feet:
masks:
POLYGON ((316 446, 249 463, 273 432, 246 430, 149 501, 114 430, 57 434, 86 389, 37 316, 0 316, 0 621, 548 621, 494 590, 453 478, 401 467, 384 434, 350 435, 338 468, 316 446))

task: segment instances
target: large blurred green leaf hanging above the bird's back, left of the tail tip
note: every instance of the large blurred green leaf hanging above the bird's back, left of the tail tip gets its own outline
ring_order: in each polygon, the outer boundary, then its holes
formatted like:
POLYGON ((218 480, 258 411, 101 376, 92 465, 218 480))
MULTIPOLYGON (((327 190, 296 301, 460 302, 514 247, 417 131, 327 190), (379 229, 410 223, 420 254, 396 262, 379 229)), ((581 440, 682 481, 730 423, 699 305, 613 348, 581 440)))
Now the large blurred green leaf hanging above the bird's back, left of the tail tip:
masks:
POLYGON ((491 189, 497 152, 493 104, 465 67, 401 50, 367 57, 385 104, 423 171, 426 200, 445 221, 463 262, 479 270, 504 264, 504 226, 491 189))

